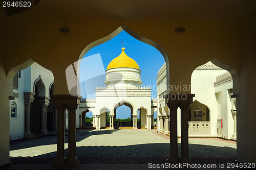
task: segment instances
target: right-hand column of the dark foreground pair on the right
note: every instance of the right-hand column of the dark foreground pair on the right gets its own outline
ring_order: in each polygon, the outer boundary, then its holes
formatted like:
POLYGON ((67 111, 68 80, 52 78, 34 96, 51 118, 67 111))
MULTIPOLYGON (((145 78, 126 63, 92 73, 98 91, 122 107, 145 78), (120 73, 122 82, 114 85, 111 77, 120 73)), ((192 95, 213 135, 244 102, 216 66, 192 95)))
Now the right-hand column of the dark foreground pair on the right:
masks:
MULTIPOLYGON (((192 101, 191 101, 192 103, 192 101)), ((188 155, 188 108, 191 103, 181 103, 181 161, 191 163, 191 159, 188 155)))

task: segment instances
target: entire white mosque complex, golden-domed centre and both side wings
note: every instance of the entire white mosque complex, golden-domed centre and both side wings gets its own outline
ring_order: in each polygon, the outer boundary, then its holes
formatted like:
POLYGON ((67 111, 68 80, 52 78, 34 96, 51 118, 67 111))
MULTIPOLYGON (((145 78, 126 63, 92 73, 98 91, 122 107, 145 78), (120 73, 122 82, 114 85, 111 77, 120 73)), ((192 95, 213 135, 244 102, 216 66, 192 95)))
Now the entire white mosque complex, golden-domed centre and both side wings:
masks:
MULTIPOLYGON (((133 129, 153 129, 169 135, 169 109, 165 103, 166 65, 157 75, 157 99, 151 88, 142 87, 141 70, 135 60, 125 54, 114 58, 105 71, 105 86, 96 87, 95 99, 82 99, 76 114, 77 128, 86 128, 87 112, 93 113, 91 126, 96 130, 114 129, 116 109, 125 105, 131 109, 133 129), (157 122, 154 123, 154 113, 157 122), (108 122, 109 116, 109 122, 108 122), (137 122, 137 118, 140 122, 137 122)), ((50 70, 37 63, 19 71, 13 79, 10 96, 10 140, 47 135, 57 130, 57 111, 51 104, 54 77, 50 70)), ((226 70, 208 62, 191 75, 191 93, 196 94, 188 112, 190 137, 219 137, 236 140, 236 98, 232 95, 232 77, 226 70)), ((65 110, 68 128, 68 110, 65 110)), ((180 109, 178 109, 180 136, 180 109)))

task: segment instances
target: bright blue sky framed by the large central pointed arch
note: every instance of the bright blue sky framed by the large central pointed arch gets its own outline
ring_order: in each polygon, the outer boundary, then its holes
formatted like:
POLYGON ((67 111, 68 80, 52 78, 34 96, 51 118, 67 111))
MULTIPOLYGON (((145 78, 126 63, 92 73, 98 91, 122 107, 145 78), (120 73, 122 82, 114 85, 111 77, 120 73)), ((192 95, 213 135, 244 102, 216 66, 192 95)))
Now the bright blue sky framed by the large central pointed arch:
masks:
MULTIPOLYGON (((80 95, 83 98, 95 98, 96 86, 105 86, 106 67, 121 54, 123 47, 121 40, 125 43, 126 55, 134 59, 140 67, 142 86, 156 85, 157 72, 165 62, 163 56, 155 47, 122 31, 111 40, 93 47, 84 55, 80 64, 80 95)), ((157 91, 153 88, 152 98, 156 97, 157 91)), ((131 115, 128 107, 117 110, 117 118, 127 118, 131 115)))

